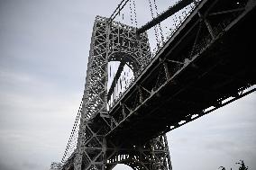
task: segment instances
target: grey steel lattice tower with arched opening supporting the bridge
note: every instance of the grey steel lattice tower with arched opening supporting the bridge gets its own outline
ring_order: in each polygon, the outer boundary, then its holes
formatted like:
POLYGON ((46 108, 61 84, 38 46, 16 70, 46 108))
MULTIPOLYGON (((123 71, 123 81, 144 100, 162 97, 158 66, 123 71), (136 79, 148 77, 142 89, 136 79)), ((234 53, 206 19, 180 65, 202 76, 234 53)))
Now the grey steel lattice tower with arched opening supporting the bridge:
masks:
MULTIPOLYGON (((146 33, 138 36, 135 27, 109 22, 105 17, 96 16, 87 64, 78 144, 71 161, 74 162, 75 170, 112 169, 117 164, 137 170, 172 169, 165 135, 146 143, 142 142, 143 139, 132 137, 125 141, 105 138, 105 134, 116 124, 112 115, 108 114, 108 103, 111 102, 114 86, 123 67, 130 67, 136 79, 150 61, 151 50, 146 33), (108 89, 110 61, 119 61, 120 65, 108 89)), ((122 107, 123 110, 129 110, 124 104, 122 107)))

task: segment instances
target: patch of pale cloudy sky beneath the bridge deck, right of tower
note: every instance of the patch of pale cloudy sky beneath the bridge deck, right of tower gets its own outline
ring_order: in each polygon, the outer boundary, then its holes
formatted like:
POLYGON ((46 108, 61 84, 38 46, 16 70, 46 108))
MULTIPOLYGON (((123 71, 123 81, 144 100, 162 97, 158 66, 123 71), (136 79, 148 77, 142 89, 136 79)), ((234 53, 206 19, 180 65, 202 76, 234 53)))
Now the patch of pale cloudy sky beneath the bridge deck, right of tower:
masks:
POLYGON ((255 93, 168 133, 174 168, 234 167, 243 159, 255 168, 255 93))

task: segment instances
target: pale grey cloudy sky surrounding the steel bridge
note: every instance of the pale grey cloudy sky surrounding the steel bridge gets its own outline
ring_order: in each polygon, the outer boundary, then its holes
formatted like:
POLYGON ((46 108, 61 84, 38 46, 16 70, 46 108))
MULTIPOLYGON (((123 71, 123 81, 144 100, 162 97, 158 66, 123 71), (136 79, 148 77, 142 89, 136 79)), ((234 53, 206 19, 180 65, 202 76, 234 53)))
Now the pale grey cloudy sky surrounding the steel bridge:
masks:
MULTIPOLYGON (((0 170, 47 170, 60 161, 84 90, 95 16, 109 16, 119 2, 0 0, 0 170)), ((244 159, 256 169, 255 96, 169 132, 173 168, 215 170, 244 159)))

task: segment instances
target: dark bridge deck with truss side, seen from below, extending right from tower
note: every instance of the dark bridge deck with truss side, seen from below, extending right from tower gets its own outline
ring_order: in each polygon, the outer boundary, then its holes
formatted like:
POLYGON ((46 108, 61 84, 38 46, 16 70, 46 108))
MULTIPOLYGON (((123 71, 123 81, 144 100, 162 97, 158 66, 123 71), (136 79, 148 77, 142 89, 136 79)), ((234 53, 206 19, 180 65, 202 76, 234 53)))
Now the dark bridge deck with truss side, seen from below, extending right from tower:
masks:
POLYGON ((110 111, 117 123, 107 138, 142 143, 242 97, 256 84, 255 2, 239 2, 197 6, 110 111))

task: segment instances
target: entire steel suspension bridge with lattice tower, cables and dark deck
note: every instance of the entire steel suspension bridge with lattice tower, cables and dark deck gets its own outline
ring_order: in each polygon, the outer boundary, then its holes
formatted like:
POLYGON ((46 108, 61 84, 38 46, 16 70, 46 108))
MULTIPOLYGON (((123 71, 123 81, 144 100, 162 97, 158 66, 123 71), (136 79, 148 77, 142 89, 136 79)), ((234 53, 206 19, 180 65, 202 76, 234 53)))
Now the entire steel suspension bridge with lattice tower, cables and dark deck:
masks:
POLYGON ((134 0, 96 16, 78 115, 51 169, 171 170, 167 132, 255 91, 254 0, 148 3, 140 26, 134 0))

